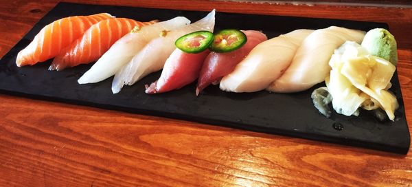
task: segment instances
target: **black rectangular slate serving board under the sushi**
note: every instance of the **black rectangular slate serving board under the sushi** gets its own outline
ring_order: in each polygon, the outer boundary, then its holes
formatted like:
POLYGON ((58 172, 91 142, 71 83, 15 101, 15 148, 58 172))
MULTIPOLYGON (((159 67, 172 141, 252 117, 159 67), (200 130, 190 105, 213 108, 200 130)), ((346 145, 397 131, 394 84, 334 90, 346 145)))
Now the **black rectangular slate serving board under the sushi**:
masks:
MULTIPOLYGON (((391 91, 396 94, 400 103, 400 108, 396 111, 396 120, 395 122, 378 122, 367 111, 361 111, 359 117, 347 117, 336 113, 332 114, 332 118, 323 117, 312 105, 310 93, 313 89, 296 94, 269 94, 266 91, 236 94, 220 91, 218 87, 208 87, 201 96, 196 97, 195 87, 192 84, 165 94, 145 94, 144 85, 159 78, 160 72, 157 72, 132 87, 124 87, 119 94, 112 94, 112 78, 101 83, 78 85, 78 78, 91 65, 80 65, 61 72, 47 70, 51 61, 32 67, 16 67, 17 53, 26 47, 48 23, 62 17, 100 12, 139 21, 152 19, 164 21, 184 16, 192 22, 207 14, 207 12, 196 11, 58 3, 1 59, 1 93, 131 113, 159 115, 394 153, 406 154, 409 149, 410 135, 397 74, 391 80, 393 84, 391 91)), ((229 14, 217 10, 215 30, 223 28, 262 30, 268 38, 271 38, 300 28, 319 29, 330 25, 366 31, 372 28, 388 28, 385 23, 229 14)), ((319 86, 321 84, 316 87, 319 86)))

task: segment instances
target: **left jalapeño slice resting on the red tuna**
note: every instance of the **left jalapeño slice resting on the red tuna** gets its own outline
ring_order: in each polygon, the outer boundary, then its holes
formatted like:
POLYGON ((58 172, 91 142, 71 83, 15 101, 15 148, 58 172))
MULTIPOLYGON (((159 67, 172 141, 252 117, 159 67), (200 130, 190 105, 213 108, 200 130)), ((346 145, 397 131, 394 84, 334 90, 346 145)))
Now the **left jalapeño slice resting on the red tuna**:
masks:
POLYGON ((201 30, 181 36, 174 45, 183 52, 200 53, 206 50, 211 42, 213 42, 213 33, 201 30))

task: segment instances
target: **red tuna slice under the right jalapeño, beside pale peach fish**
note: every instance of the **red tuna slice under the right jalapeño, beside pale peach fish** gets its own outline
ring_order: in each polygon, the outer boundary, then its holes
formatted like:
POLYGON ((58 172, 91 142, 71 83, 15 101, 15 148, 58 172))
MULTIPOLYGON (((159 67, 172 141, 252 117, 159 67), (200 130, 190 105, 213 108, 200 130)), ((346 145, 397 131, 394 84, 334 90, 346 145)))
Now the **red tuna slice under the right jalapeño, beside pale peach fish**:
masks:
POLYGON ((225 53, 211 52, 207 56, 198 78, 196 96, 211 83, 216 83, 216 81, 219 81, 223 76, 230 74, 236 65, 251 52, 253 47, 268 39, 262 32, 254 30, 242 32, 247 36, 247 43, 240 47, 240 49, 225 53))

